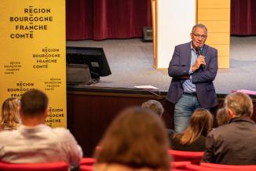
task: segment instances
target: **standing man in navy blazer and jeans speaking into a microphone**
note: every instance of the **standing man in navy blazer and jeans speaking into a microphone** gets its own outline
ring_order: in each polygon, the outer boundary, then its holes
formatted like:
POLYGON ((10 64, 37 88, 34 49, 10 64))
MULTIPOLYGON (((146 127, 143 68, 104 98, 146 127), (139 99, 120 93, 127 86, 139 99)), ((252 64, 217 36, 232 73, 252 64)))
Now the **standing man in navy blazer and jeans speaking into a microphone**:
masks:
POLYGON ((181 133, 196 108, 210 109, 218 104, 214 78, 218 71, 218 51, 205 45, 207 27, 196 24, 191 42, 177 45, 170 60, 168 74, 172 77, 167 100, 175 104, 174 131, 181 133))

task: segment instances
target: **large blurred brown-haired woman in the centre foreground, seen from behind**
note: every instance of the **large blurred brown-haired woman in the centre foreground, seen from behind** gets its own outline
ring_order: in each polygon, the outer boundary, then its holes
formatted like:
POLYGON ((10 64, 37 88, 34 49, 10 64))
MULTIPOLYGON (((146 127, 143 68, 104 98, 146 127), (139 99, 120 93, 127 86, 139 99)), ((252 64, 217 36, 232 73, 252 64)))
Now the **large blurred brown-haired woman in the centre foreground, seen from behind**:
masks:
POLYGON ((160 118, 141 107, 121 112, 109 126, 96 151, 97 171, 170 169, 168 138, 160 118))

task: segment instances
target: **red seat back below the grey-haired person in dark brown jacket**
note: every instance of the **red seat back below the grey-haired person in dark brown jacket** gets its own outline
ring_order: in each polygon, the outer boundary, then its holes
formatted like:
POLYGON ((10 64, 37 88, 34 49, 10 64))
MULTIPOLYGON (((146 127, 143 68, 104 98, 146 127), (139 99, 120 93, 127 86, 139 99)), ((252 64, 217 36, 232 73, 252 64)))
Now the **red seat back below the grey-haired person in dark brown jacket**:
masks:
POLYGON ((204 166, 207 168, 213 169, 229 169, 229 170, 249 170, 249 171, 256 171, 256 165, 222 165, 217 163, 208 163, 208 162, 201 162, 200 166, 204 166))

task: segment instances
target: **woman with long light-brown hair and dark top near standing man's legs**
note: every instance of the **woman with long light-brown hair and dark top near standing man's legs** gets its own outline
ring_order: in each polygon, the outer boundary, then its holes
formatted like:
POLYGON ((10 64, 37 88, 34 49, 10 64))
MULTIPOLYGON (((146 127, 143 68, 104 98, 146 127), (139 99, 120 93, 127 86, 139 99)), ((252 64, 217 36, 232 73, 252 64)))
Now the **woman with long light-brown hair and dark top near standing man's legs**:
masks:
POLYGON ((210 111, 197 109, 189 120, 184 133, 170 139, 171 148, 177 151, 204 151, 207 133, 213 128, 210 111))

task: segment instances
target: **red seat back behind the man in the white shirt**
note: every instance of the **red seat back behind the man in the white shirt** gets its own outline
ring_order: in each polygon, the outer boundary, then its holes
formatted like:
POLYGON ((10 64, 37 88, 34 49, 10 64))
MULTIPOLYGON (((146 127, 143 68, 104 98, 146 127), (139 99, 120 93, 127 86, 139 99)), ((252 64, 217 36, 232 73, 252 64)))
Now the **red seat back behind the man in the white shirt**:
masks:
POLYGON ((1 171, 68 171, 66 162, 48 163, 8 163, 0 162, 1 171))

